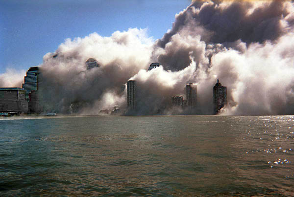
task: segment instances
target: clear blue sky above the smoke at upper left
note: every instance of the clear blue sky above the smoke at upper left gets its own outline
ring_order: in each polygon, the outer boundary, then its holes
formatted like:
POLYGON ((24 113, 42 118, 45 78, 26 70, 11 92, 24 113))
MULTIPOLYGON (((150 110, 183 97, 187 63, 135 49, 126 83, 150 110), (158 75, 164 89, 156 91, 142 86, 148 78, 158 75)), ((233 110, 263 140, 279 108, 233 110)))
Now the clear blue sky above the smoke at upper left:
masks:
POLYGON ((161 38, 190 0, 0 0, 0 74, 42 64, 67 38, 147 28, 161 38))

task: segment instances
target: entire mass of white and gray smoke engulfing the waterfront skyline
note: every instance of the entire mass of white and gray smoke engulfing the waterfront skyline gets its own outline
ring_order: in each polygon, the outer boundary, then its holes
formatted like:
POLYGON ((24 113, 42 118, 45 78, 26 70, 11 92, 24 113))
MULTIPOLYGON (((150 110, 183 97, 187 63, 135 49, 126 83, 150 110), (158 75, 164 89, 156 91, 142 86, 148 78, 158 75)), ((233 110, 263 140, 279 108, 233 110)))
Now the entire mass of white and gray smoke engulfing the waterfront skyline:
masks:
MULTIPOLYGON (((212 114, 219 78, 228 91, 221 114, 293 114, 293 45, 293 1, 193 1, 157 41, 137 28, 67 39, 44 56, 40 90, 50 110, 97 114, 116 104, 125 108, 123 85, 136 80, 135 114, 170 114, 171 97, 194 83, 197 113, 212 114), (100 67, 87 70, 89 58, 100 67), (162 66, 147 71, 152 62, 162 66)), ((0 75, 0 87, 8 86, 10 72, 15 83, 9 86, 20 87, 22 74, 11 70, 0 75)))

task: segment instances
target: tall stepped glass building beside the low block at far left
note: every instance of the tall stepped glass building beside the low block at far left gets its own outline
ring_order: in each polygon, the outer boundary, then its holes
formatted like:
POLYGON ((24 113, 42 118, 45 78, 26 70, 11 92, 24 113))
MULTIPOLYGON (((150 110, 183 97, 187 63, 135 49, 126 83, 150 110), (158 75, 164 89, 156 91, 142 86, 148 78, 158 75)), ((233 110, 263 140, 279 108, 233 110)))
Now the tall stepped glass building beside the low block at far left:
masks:
POLYGON ((29 102, 29 94, 32 90, 38 90, 38 75, 39 67, 30 67, 25 76, 25 83, 23 84, 23 88, 25 89, 25 99, 27 102, 29 102))

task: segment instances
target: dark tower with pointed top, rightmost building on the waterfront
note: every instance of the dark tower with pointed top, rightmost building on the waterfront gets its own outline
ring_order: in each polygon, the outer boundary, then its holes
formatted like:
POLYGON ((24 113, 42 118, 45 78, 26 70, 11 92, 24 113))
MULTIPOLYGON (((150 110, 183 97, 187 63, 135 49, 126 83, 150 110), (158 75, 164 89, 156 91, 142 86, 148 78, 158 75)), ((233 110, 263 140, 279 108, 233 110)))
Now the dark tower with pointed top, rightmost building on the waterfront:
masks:
POLYGON ((213 104, 215 113, 218 113, 221 108, 227 104, 227 91, 225 86, 221 86, 218 79, 216 85, 213 87, 213 104))

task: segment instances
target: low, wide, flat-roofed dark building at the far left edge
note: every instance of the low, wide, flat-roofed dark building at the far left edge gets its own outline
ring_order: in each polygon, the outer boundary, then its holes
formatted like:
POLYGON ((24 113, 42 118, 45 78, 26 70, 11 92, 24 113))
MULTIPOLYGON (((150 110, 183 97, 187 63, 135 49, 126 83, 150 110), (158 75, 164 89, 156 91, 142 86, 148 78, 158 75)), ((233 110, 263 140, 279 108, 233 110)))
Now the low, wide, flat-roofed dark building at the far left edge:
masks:
POLYGON ((27 109, 23 88, 0 88, 0 112, 27 113, 27 109))

